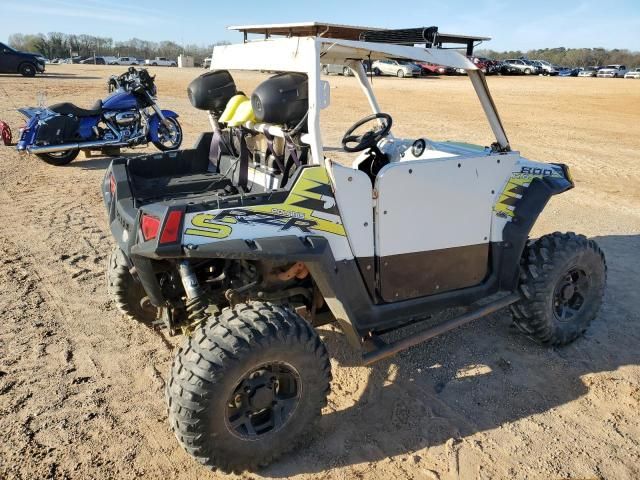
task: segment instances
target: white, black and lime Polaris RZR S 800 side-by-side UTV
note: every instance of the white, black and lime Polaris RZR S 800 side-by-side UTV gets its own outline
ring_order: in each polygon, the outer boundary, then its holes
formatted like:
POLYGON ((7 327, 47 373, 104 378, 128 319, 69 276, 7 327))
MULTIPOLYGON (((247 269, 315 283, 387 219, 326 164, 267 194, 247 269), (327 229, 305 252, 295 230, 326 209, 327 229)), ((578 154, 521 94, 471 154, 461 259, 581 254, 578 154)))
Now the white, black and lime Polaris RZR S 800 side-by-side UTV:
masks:
POLYGON ((585 331, 605 287, 601 250, 573 233, 529 240, 550 197, 573 188, 569 169, 511 149, 483 74, 438 48, 451 36, 238 29, 245 42, 215 47, 189 87, 212 132, 192 150, 115 159, 103 185, 117 242, 110 293, 126 314, 186 335, 166 397, 198 461, 257 468, 296 445, 329 391, 319 325, 336 322, 365 364, 504 307, 545 345, 585 331), (254 32, 265 38, 248 41, 254 32), (396 137, 363 67, 389 58, 466 70, 495 139, 396 137), (326 63, 351 68, 372 111, 342 138, 351 165, 323 148, 326 63), (278 73, 242 93, 234 70, 278 73), (450 307, 467 308, 382 338, 450 307))

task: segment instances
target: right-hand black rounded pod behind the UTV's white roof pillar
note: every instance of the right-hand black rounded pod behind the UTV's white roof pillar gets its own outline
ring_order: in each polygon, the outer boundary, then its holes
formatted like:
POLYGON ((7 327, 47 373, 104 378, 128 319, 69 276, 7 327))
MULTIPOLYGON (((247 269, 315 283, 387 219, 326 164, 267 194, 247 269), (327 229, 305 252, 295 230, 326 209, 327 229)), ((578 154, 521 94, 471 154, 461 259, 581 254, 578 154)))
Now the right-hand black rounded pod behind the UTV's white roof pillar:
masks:
POLYGON ((265 80, 251 95, 260 122, 295 126, 309 110, 309 82, 304 73, 280 73, 265 80))

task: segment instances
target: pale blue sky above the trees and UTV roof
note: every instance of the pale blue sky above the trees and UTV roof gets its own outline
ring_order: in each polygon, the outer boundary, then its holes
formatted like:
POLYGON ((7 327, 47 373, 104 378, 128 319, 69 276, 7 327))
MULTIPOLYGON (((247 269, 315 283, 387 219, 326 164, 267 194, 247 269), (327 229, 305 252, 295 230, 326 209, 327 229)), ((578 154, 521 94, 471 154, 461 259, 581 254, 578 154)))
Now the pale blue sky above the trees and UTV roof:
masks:
POLYGON ((229 25, 320 21, 371 27, 437 25, 492 37, 482 48, 640 51, 640 0, 0 0, 0 41, 12 33, 87 33, 208 45, 242 41, 229 25))

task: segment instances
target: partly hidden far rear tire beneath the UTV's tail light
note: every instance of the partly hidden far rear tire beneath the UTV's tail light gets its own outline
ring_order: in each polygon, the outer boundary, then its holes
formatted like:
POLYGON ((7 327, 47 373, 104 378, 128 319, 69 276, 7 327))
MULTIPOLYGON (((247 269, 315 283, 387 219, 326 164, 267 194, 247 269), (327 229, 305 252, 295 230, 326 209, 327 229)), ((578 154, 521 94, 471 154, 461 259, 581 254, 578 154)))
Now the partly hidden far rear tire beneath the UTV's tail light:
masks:
POLYGON ((143 306, 141 301, 147 295, 144 287, 129 272, 129 262, 119 247, 113 247, 107 259, 107 291, 125 315, 139 322, 152 324, 156 320, 157 309, 143 306))

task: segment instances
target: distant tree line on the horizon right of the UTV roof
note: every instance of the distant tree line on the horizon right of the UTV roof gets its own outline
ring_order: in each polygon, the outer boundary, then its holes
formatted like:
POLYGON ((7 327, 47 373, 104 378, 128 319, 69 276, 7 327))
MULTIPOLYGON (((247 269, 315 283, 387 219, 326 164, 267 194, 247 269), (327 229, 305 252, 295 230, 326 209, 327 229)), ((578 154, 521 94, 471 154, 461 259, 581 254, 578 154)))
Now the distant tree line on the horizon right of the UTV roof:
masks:
POLYGON ((494 60, 506 60, 508 58, 528 58, 531 60, 546 60, 554 65, 562 67, 587 67, 591 65, 626 65, 627 68, 640 67, 640 52, 632 52, 626 49, 605 48, 543 48, 528 50, 526 52, 513 50, 508 52, 496 52, 494 50, 477 50, 476 55, 494 60))

